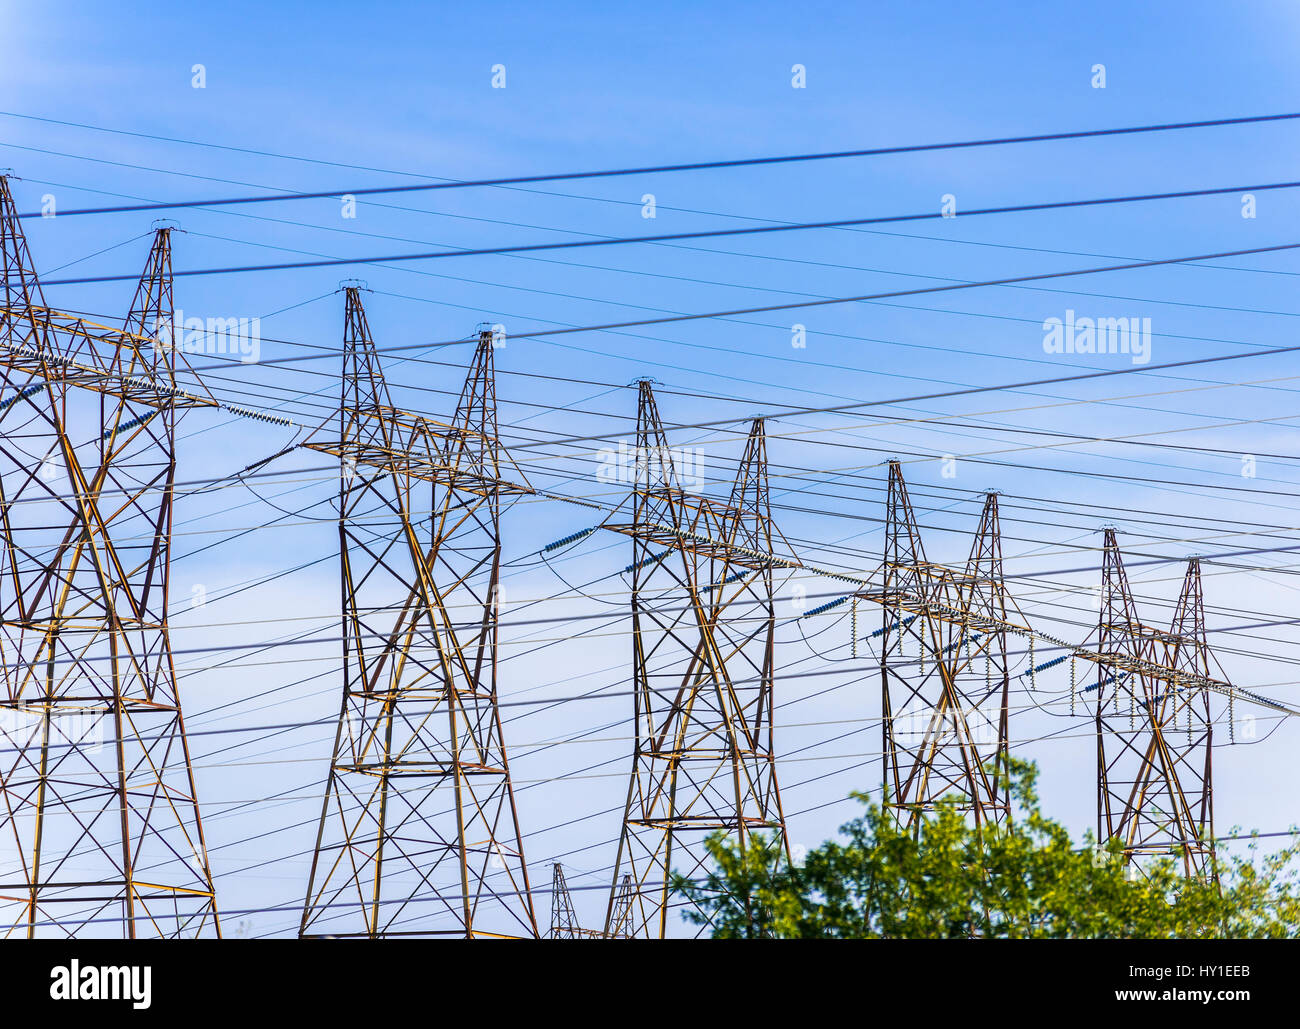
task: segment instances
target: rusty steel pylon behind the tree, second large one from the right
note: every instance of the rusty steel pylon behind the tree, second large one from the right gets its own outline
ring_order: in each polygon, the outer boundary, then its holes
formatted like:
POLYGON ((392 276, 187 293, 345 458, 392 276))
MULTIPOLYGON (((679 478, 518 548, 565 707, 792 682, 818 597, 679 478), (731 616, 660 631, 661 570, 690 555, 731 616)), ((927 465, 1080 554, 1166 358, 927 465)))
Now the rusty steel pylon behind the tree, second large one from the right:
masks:
POLYGON ((975 824, 1010 816, 1005 776, 1008 631, 1019 611, 1002 578, 997 494, 984 498, 965 572, 926 560, 902 468, 889 463, 881 586, 884 804, 916 828, 941 799, 975 824))

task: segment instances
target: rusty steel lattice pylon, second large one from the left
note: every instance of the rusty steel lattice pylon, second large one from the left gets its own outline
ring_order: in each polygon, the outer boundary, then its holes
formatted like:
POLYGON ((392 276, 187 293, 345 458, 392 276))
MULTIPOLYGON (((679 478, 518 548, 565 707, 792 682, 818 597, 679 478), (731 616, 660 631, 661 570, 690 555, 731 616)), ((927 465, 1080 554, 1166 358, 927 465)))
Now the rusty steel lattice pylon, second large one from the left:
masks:
POLYGON ((536 937, 497 704, 500 504, 493 339, 451 422, 393 407, 346 288, 338 439, 343 705, 299 935, 536 937))

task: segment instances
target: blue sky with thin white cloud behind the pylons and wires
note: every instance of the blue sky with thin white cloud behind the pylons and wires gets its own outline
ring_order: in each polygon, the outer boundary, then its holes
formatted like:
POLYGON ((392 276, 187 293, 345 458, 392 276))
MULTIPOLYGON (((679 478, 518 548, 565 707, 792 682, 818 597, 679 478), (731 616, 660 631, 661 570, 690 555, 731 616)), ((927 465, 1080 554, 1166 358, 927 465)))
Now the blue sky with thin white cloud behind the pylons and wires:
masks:
MULTIPOLYGON (((359 9, 316 3, 186 10, 138 4, 125 14, 96 4, 0 4, 0 168, 12 168, 21 179, 20 208, 38 207, 46 194, 72 208, 118 203, 118 196, 343 192, 421 177, 641 166, 1262 114, 1300 107, 1297 30, 1300 9, 1280 3, 1004 10, 710 4, 707 12, 689 4, 359 9), (191 86, 196 64, 204 66, 204 88, 191 86), (806 88, 792 88, 796 64, 806 68, 806 88), (1105 88, 1092 86, 1097 64, 1105 65, 1105 88), (504 65, 506 88, 491 87, 494 65, 504 65)), ((342 218, 339 203, 330 199, 179 210, 172 212, 185 230, 174 244, 178 269, 930 212, 945 194, 956 196, 958 214, 885 231, 779 233, 195 277, 178 281, 177 301, 187 313, 261 317, 260 356, 269 360, 300 355, 303 343, 338 347, 342 300, 335 291, 350 277, 373 291, 367 308, 381 346, 402 347, 467 338, 481 322, 500 322, 507 331, 592 325, 1245 249, 1300 239, 1294 191, 1260 192, 1254 218, 1242 217, 1236 194, 970 220, 961 212, 1288 181, 1297 157, 1295 122, 1282 122, 385 196, 363 199, 355 220, 342 218), (646 194, 655 199, 653 221, 642 217, 646 194)), ((26 226, 43 272, 53 275, 69 265, 62 274, 112 275, 138 270, 152 221, 152 214, 116 214, 26 226)), ((770 427, 774 498, 784 505, 779 517, 786 535, 810 557, 858 569, 878 560, 881 463, 898 456, 916 490, 931 556, 939 560, 965 557, 963 533, 974 527, 980 491, 1006 494, 1009 570, 1023 577, 1026 613, 1048 631, 1087 634, 1092 615, 1086 591, 1096 581, 1091 569, 1102 525, 1118 526, 1135 559, 1170 559, 1134 572, 1153 621, 1167 620, 1182 577, 1178 561, 1192 553, 1212 559, 1212 626, 1287 618, 1297 600, 1287 553, 1213 557, 1284 544, 1296 531, 1296 470, 1287 459, 1296 451, 1291 412, 1300 369, 1294 356, 893 403, 872 409, 878 417, 870 418, 790 411, 1119 368, 1123 359, 1117 356, 1044 352, 1044 320, 1063 318, 1067 311, 1150 318, 1154 364, 1295 342, 1295 256, 1214 264, 512 340, 498 355, 502 422, 529 455, 523 460, 534 483, 594 494, 595 452, 632 427, 634 392, 621 387, 649 374, 660 382, 660 408, 670 422, 736 420, 733 427, 675 434, 684 446, 702 447, 719 476, 740 452, 744 420, 760 413, 776 418, 770 427), (802 349, 790 346, 796 321, 807 330, 802 349), (1145 443, 1062 447, 1052 446, 1061 439, 1046 433, 1145 443), (546 434, 592 439, 562 453, 545 442, 546 434), (942 476, 945 455, 957 459, 956 478, 942 476), (1242 476, 1243 455, 1258 455, 1253 478, 1242 476), (806 511, 816 507, 835 513, 806 511)), ((51 287, 47 298, 55 307, 125 313, 130 283, 51 287)), ((404 353, 445 364, 399 364, 394 357, 389 372, 399 403, 445 412, 448 394, 459 392, 455 365, 463 365, 468 347, 404 353)), ((335 374, 333 357, 287 370, 234 364, 213 372, 230 395, 239 391, 264 407, 283 403, 299 421, 306 421, 302 412, 325 417, 335 374), (303 392, 320 392, 313 407, 295 399, 303 392)), ((226 417, 191 416, 185 425, 182 479, 224 476, 292 437, 226 417)), ((228 917, 228 929, 244 921, 252 934, 296 925, 292 907, 306 878, 302 852, 311 845, 316 782, 333 735, 328 721, 337 709, 338 673, 330 670, 337 644, 292 648, 299 667, 278 663, 290 648, 216 655, 205 648, 246 647, 307 630, 330 635, 337 621, 330 607, 337 596, 333 479, 318 468, 311 459, 287 459, 259 482, 257 495, 228 490, 196 499, 188 509, 182 503, 177 514, 188 533, 178 550, 194 553, 177 561, 174 595, 187 598, 202 586, 207 596, 222 598, 176 618, 176 646, 191 667, 191 729, 244 726, 248 733, 208 737, 195 747, 222 906, 285 908, 228 917), (316 505, 265 526, 277 517, 265 502, 289 512, 316 505), (265 527, 226 539, 252 526, 265 527), (209 543, 216 546, 200 551, 209 543), (255 589, 233 592, 254 581, 255 589), (286 685, 303 676, 313 678, 286 685), (324 722, 269 739, 247 729, 312 720, 324 722), (287 798, 247 803, 281 793, 287 798)), ((526 559, 588 524, 581 511, 564 505, 514 512, 506 559, 526 559)), ((586 582, 621 568, 627 550, 625 540, 593 537, 558 568, 569 582, 586 582)), ((521 564, 507 589, 526 602, 563 586, 545 566, 521 564)), ((616 578, 602 589, 608 592, 597 599, 549 602, 546 617, 625 604, 616 578)), ((807 590, 833 594, 826 581, 810 581, 807 590)), ((792 837, 807 846, 852 815, 852 803, 836 803, 850 789, 879 782, 879 763, 871 764, 879 748, 879 730, 870 722, 879 712, 874 678, 827 660, 844 654, 844 624, 818 629, 824 635, 816 651, 796 629, 783 629, 783 655, 790 668, 819 670, 822 678, 792 680, 781 687, 785 692, 779 690, 790 702, 779 713, 785 720, 779 721, 781 739, 788 741, 783 750, 800 751, 781 769, 790 783, 786 811, 794 812, 792 837), (812 696, 835 676, 842 677, 841 689, 812 696), (832 739, 841 735, 827 725, 833 720, 852 733, 832 739)), ((1244 631, 1249 635, 1222 641, 1232 678, 1300 700, 1288 682, 1291 631, 1244 631)), ((612 689, 627 676, 629 648, 618 624, 606 633, 585 646, 558 643, 540 657, 507 663, 517 672, 503 681, 503 699, 612 689)), ((554 626, 521 625, 511 634, 503 656, 521 650, 519 641, 530 634, 554 635, 554 626)), ((1050 683, 1063 687, 1063 681, 1050 683)), ((629 708, 625 696, 536 712, 524 704, 517 709, 532 713, 507 724, 507 741, 517 743, 516 777, 529 785, 520 813, 530 834, 533 880, 549 882, 549 861, 563 860, 571 881, 590 887, 578 894, 578 912, 593 924, 603 911, 601 887, 618 828, 616 815, 595 812, 616 807, 625 789, 620 718, 627 720, 629 708), (594 729, 599 731, 585 742, 551 746, 594 729), (599 768, 577 772, 588 765, 599 768), (554 811, 590 817, 554 828, 554 811)), ((1030 741, 1061 730, 1067 722, 1060 715, 1060 708, 1050 713, 1031 704, 1014 720, 1013 735, 1030 741)), ((1271 728, 1261 722, 1261 734, 1271 728)), ((1295 729, 1283 725, 1258 746, 1216 756, 1221 829, 1278 830, 1300 821, 1295 796, 1278 795, 1270 785, 1288 774, 1294 742, 1295 729)), ((1022 752, 1043 764, 1049 809, 1074 829, 1091 825, 1087 726, 1080 722, 1050 744, 1026 743, 1022 752)), ((546 907, 542 896, 540 908, 546 907)))

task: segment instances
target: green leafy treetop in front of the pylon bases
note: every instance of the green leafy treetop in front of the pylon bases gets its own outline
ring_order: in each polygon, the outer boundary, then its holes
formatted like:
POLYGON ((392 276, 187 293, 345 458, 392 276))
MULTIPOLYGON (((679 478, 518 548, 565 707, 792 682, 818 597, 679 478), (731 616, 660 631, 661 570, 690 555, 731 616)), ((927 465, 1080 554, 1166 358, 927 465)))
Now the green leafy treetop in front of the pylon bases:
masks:
POLYGON ((1252 938, 1300 935, 1300 886, 1290 846, 1219 859, 1218 881, 1187 880, 1173 860, 1134 876, 1119 845, 1075 843, 1045 817, 1034 765, 1010 763, 1015 817, 976 830, 940 804, 915 832, 863 794, 864 812, 798 868, 751 835, 708 839, 703 881, 673 878, 685 917, 715 938, 1252 938))

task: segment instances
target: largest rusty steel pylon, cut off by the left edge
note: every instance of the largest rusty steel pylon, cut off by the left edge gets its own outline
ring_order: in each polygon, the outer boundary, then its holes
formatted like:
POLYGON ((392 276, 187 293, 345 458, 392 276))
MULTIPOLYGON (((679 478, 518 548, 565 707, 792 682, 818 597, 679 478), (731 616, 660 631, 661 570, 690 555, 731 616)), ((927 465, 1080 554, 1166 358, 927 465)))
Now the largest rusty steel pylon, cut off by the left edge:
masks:
POLYGON ((4 178, 0 251, 0 934, 220 935, 168 629, 176 424, 216 401, 176 388, 170 233, 125 330, 46 305, 4 178))

